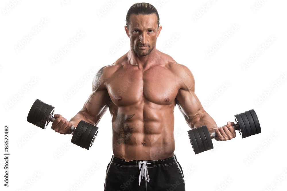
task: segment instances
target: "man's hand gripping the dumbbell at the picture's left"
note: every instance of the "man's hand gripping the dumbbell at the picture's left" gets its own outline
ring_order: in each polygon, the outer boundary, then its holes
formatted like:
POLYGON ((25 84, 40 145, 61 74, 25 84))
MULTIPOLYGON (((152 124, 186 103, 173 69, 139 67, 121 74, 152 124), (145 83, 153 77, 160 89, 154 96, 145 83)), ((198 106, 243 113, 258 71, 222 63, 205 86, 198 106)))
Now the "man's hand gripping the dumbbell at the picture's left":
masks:
POLYGON ((62 117, 62 115, 55 114, 55 121, 52 123, 52 129, 61 134, 71 134, 71 126, 70 123, 66 118, 62 117))

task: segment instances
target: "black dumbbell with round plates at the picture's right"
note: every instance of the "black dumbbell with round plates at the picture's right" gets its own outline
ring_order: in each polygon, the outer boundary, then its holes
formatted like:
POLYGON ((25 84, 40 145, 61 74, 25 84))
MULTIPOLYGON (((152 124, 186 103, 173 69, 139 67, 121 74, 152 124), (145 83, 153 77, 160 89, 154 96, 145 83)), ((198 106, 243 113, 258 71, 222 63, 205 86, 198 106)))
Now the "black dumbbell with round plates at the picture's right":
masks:
MULTIPOLYGON (((234 118, 233 128, 239 131, 242 138, 261 133, 261 127, 253 109, 234 115, 234 118)), ((212 139, 216 137, 216 133, 209 133, 206 125, 187 132, 195 154, 213 149, 212 139)))

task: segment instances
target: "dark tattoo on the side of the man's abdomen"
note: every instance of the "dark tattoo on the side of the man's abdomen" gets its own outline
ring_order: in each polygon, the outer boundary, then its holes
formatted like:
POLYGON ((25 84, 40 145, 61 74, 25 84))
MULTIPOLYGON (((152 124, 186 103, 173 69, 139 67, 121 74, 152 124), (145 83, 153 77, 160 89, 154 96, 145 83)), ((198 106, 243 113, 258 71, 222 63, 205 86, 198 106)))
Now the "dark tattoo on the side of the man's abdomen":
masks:
POLYGON ((114 123, 114 127, 115 127, 115 137, 117 143, 127 144, 131 140, 130 137, 133 128, 129 127, 126 121, 128 119, 131 119, 135 114, 133 115, 120 114, 118 113, 117 109, 115 109, 115 113, 116 113, 116 120, 114 123))

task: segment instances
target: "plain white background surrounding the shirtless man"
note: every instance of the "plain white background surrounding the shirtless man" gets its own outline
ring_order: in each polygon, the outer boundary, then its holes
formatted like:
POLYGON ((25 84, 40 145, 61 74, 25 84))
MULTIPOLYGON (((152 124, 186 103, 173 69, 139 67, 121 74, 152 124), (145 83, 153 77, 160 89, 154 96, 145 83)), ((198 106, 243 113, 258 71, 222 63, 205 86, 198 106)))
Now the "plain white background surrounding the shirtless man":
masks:
MULTIPOLYGON (((4 140, 4 126, 9 125, 10 141, 9 188, 3 186, 4 141, 0 144, 1 190, 103 190, 112 155, 108 112, 98 124, 100 131, 90 151, 71 144, 71 135, 55 133, 51 125, 40 129, 26 117, 36 99, 53 105, 67 119, 82 108, 92 91, 94 70, 129 50, 125 16, 135 1, 11 2, 0 4, 0 134, 4 140), (71 46, 79 31, 84 35, 71 46), (32 38, 25 42, 29 34, 32 38), (16 48, 21 43, 22 48, 16 48), (53 63, 65 46, 69 50, 53 63)), ((186 190, 285 190, 287 2, 146 2, 160 15, 162 31, 156 48, 193 72, 195 93, 218 126, 249 109, 256 111, 261 124, 258 135, 241 139, 237 132, 235 139, 213 140, 213 150, 194 155, 189 127, 175 108, 175 153, 186 190), (214 47, 220 40, 223 44, 214 47), (265 43, 268 47, 262 49, 265 43), (213 47, 216 50, 207 56, 213 47), (243 67, 252 55, 255 60, 243 67), (224 84, 227 88, 222 90, 224 84)))

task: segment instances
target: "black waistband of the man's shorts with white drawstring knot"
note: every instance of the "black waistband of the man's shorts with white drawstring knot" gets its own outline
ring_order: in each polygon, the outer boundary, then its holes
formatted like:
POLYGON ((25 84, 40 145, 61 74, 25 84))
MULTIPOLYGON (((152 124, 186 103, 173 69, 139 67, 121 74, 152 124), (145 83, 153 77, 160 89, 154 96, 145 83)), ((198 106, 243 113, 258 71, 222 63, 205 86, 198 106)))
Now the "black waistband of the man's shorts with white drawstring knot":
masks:
POLYGON ((120 159, 118 157, 115 157, 114 155, 111 158, 111 163, 118 165, 118 166, 135 166, 138 167, 139 166, 139 162, 140 161, 146 161, 146 166, 148 168, 150 167, 156 167, 156 166, 168 166, 174 163, 177 163, 177 157, 175 156, 175 154, 171 157, 168 157, 166 159, 160 159, 157 161, 154 160, 131 160, 126 162, 124 159, 120 159))

